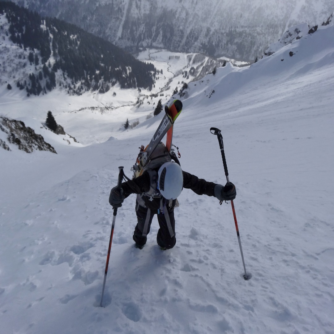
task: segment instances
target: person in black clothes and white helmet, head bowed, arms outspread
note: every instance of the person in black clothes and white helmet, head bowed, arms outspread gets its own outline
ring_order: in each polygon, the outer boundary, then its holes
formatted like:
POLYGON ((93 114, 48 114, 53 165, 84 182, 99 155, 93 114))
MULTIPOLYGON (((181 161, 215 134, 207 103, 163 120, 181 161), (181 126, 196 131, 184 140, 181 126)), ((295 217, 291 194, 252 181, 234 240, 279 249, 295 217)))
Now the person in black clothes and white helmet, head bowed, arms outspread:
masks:
POLYGON ((117 187, 111 189, 109 203, 113 207, 120 207, 126 197, 133 193, 137 194, 138 223, 133 234, 137 248, 144 247, 155 214, 160 226, 157 234, 158 245, 162 250, 174 247, 176 243, 174 207, 178 206, 176 199, 183 188, 191 189, 198 195, 215 196, 221 202, 233 200, 236 196, 233 183, 222 186, 207 182, 182 171, 180 165, 174 161, 145 170, 137 178, 123 182, 120 190, 117 187))

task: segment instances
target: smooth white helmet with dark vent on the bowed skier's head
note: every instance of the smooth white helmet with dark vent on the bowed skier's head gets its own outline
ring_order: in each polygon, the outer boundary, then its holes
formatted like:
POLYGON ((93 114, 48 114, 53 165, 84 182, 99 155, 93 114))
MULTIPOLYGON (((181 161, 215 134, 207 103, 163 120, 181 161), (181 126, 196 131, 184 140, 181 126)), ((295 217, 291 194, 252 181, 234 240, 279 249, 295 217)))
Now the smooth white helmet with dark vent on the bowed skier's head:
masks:
POLYGON ((176 162, 165 162, 158 171, 158 187, 166 199, 176 199, 183 188, 182 169, 176 162))

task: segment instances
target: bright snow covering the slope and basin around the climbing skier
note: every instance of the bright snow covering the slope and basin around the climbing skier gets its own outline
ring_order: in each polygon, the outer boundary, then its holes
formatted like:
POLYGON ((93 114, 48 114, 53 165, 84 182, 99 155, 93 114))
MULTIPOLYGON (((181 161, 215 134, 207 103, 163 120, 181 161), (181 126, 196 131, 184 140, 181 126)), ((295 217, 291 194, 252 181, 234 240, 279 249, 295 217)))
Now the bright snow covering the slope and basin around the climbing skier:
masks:
POLYGON ((189 83, 175 123, 182 168, 224 184, 209 130, 222 131, 252 278, 242 278, 229 203, 184 189, 175 247, 160 251, 154 220, 139 250, 131 195, 116 216, 104 307, 109 192, 161 117, 146 120, 147 105, 88 112, 116 106, 112 92, 27 99, 1 87, 1 114, 39 133, 52 109, 82 145, 48 133, 57 154, 0 150, 0 333, 334 333, 333 34, 320 27, 250 67, 189 83), (124 131, 131 116, 141 122, 124 131))

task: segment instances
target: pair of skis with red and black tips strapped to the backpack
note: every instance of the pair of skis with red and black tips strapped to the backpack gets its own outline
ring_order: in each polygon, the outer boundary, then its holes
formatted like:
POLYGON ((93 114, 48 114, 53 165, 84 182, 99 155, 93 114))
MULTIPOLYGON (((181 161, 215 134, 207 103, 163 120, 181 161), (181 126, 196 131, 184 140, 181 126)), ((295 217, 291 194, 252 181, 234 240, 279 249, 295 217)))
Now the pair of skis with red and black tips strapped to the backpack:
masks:
POLYGON ((153 135, 150 143, 144 149, 144 146, 141 147, 141 151, 138 155, 136 164, 133 166, 133 171, 135 176, 139 176, 141 171, 150 160, 150 157, 157 147, 157 145, 161 142, 163 137, 167 134, 166 138, 166 148, 168 152, 170 152, 172 147, 172 139, 173 139, 173 125, 177 117, 180 115, 182 111, 182 102, 180 100, 174 100, 169 106, 165 106, 165 115, 161 120, 158 129, 153 135))

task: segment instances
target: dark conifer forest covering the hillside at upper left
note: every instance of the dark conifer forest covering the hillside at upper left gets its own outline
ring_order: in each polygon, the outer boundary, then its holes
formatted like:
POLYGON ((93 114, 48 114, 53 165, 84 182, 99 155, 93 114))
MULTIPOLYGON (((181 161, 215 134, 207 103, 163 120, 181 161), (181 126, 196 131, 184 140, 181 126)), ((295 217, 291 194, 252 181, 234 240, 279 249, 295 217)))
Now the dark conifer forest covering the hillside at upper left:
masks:
POLYGON ((141 62, 73 24, 42 18, 12 2, 0 2, 0 13, 5 13, 10 23, 10 39, 30 51, 28 61, 35 65, 34 73, 17 82, 28 95, 55 88, 59 70, 63 76, 59 85, 78 95, 87 90, 105 93, 117 82, 121 88, 151 90, 154 85, 157 70, 153 64, 141 62))

